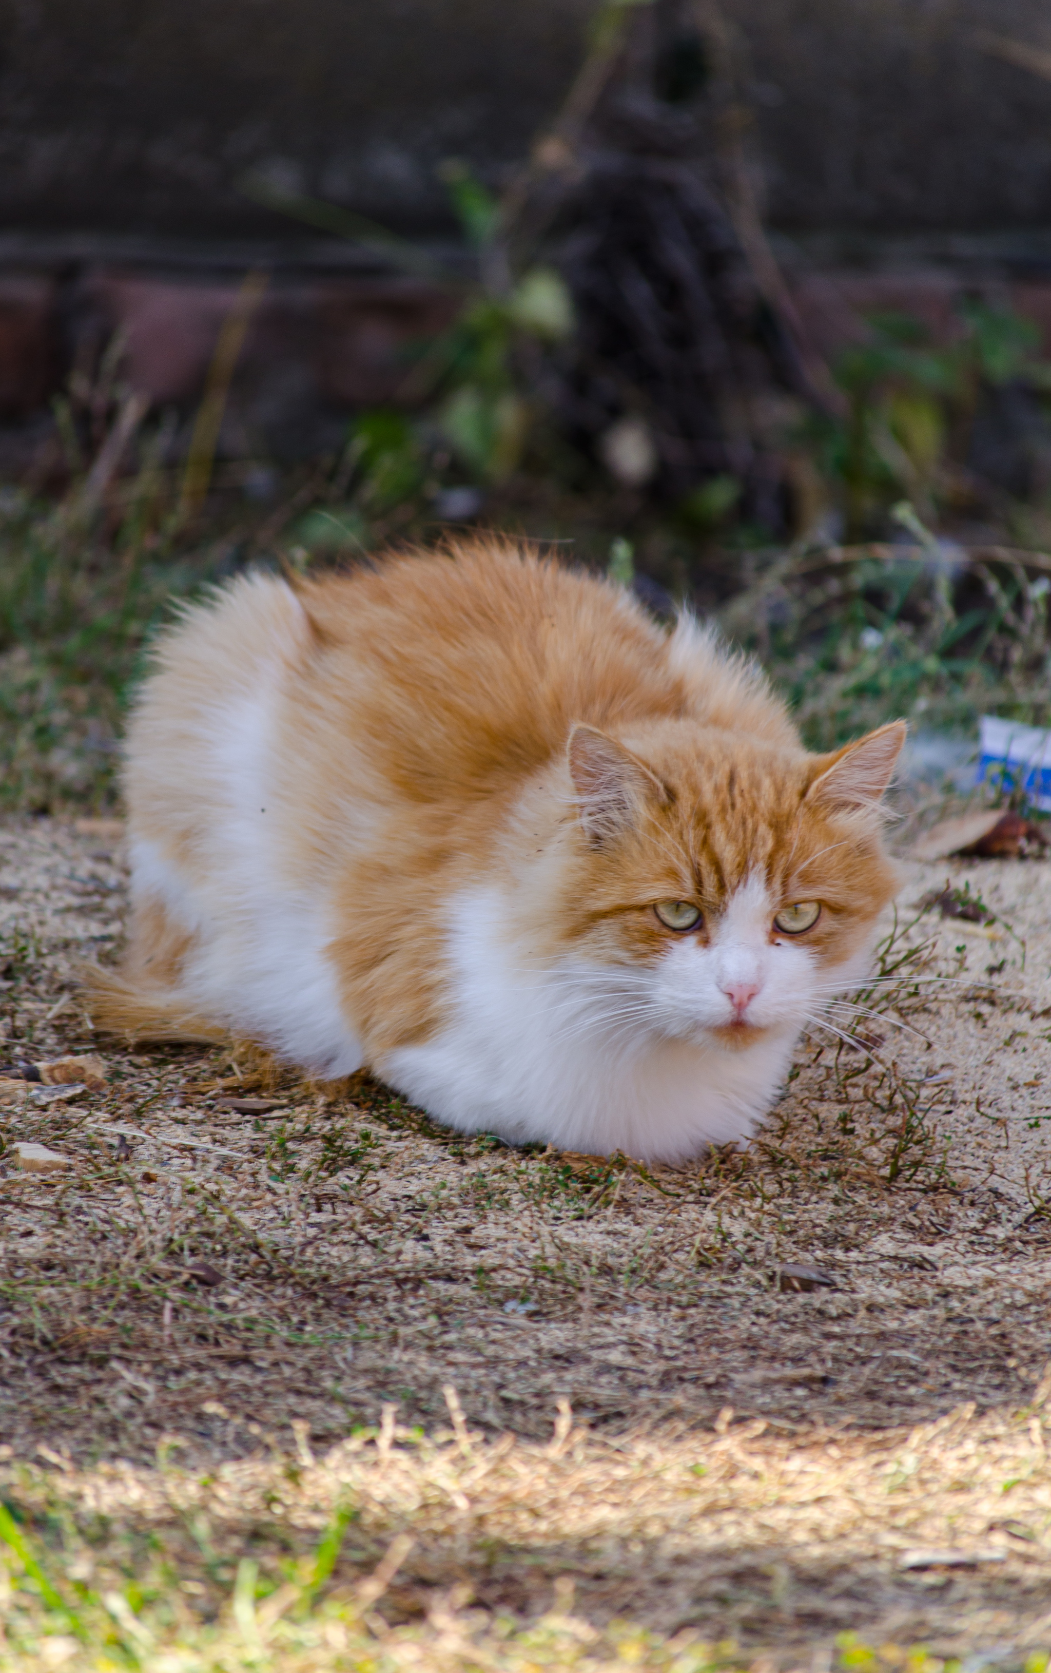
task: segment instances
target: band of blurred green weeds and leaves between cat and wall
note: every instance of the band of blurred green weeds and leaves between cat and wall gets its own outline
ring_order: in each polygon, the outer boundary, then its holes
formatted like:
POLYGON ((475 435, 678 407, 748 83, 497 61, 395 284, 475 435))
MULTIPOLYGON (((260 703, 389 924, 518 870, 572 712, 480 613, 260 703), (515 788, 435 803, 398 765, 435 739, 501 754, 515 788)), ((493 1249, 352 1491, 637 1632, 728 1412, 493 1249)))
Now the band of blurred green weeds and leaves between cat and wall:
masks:
MULTIPOLYGON (((452 187, 484 243, 492 202, 469 177, 452 187)), ((949 514, 986 393, 1043 390, 1048 368, 1021 321, 974 306, 947 348, 914 323, 874 321, 838 368, 847 417, 813 425, 807 445, 827 504, 884 539, 772 547, 733 527, 731 478, 701 485, 686 515, 587 485, 557 450, 542 453, 522 388, 544 340, 571 330, 566 306, 544 268, 504 299, 477 296, 413 371, 422 415, 361 413, 338 455, 290 473, 263 509, 238 489, 249 468, 192 448, 184 470, 174 462, 171 425, 144 422, 119 358, 104 356, 94 381, 74 378, 57 405, 62 495, 0 494, 0 805, 114 803, 122 714, 172 602, 249 564, 303 572, 442 537, 447 499, 465 494, 482 525, 547 539, 623 584, 638 570, 666 609, 715 612, 768 666, 813 748, 895 716, 964 734, 982 711, 1051 719, 1039 507, 1001 507, 999 534, 986 519, 977 537, 959 519, 946 537, 932 520, 949 514)))

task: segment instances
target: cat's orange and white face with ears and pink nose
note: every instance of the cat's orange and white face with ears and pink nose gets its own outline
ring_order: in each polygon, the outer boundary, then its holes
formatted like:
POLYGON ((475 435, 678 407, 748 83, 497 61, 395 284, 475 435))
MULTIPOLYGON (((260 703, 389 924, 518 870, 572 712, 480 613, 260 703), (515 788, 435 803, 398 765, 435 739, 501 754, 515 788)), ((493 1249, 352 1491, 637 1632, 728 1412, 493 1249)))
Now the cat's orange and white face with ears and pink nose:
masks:
POLYGON ((740 1051, 864 977, 897 888, 877 811, 897 723, 832 756, 684 723, 569 744, 577 840, 564 952, 614 1034, 740 1051))

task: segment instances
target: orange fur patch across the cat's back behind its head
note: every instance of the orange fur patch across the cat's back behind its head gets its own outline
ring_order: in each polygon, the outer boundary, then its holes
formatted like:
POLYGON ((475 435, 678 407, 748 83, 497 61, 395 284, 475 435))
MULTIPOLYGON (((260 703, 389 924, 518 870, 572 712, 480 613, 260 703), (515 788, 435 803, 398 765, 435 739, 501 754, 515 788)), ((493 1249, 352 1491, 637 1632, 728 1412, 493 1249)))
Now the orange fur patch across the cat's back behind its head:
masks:
POLYGON ((696 718, 798 746, 761 674, 690 619, 664 632, 624 589, 495 537, 310 582, 311 711, 365 734, 413 796, 487 793, 606 729, 696 718))

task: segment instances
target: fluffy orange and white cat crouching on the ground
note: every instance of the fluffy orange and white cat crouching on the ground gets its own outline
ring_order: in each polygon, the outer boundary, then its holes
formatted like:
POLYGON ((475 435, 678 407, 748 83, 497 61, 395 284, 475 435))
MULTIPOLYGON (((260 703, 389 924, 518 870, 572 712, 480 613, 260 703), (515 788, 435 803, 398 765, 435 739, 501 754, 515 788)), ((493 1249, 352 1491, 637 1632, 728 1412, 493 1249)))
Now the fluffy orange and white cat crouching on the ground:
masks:
POLYGON ((159 642, 127 739, 132 923, 95 1022, 375 1071, 509 1141, 745 1141, 865 975, 902 723, 808 755, 683 616, 497 539, 159 642))

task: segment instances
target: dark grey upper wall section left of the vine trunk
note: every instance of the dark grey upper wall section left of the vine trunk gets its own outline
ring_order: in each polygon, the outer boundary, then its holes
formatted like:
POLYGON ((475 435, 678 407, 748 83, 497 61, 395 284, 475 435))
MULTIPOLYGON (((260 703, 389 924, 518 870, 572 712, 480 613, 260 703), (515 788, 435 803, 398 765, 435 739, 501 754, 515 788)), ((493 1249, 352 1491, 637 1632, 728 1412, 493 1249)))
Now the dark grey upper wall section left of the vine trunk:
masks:
POLYGON ((0 0, 0 224, 281 234, 248 169, 388 226, 522 156, 592 0, 0 0))

